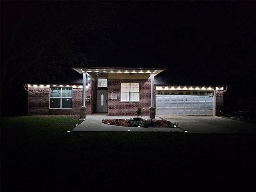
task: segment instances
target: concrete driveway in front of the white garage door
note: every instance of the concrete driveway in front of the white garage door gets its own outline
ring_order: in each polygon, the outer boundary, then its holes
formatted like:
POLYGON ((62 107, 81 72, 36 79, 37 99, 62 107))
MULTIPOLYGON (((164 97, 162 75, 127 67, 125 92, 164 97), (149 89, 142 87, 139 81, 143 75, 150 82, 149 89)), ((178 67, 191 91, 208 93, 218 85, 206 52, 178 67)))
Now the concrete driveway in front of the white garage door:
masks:
POLYGON ((218 116, 174 116, 159 115, 190 133, 256 134, 256 124, 222 118, 218 116))

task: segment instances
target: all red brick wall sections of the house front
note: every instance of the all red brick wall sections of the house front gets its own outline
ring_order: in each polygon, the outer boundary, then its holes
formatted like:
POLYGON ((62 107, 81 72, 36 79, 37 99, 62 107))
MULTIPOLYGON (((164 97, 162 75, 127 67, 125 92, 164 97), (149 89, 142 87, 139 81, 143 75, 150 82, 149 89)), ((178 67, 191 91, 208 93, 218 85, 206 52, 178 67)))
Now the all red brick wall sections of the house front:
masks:
MULTIPOLYGON (((91 86, 86 89, 86 97, 91 101, 86 102, 86 114, 96 113, 97 82, 91 81, 91 86)), ((106 89, 106 88, 104 88, 106 89)), ((142 116, 150 116, 150 79, 108 79, 108 115, 136 116, 138 106, 144 108, 142 116), (139 102, 121 102, 121 83, 139 83, 139 102), (117 96, 113 99, 111 95, 117 96)), ((214 92, 215 115, 223 115, 223 91, 214 92)), ((28 88, 28 115, 80 115, 82 107, 82 88, 72 89, 72 109, 50 109, 50 88, 28 88)), ((156 92, 154 90, 154 107, 156 107, 156 92)))

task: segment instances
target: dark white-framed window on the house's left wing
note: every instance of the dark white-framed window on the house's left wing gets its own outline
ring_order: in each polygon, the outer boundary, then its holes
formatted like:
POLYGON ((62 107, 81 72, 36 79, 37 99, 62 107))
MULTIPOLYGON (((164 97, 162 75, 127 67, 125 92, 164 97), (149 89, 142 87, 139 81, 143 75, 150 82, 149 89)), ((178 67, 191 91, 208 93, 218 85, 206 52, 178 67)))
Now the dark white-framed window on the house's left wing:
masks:
POLYGON ((71 109, 72 108, 72 87, 51 87, 50 108, 71 109))

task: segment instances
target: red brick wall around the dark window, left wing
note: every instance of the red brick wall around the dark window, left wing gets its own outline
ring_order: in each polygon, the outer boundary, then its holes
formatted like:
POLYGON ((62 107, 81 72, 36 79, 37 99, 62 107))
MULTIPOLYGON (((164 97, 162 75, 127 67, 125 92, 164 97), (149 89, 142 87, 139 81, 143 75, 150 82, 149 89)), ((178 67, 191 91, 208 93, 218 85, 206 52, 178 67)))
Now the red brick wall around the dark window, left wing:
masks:
MULTIPOLYGON (((91 91, 86 90, 86 96, 91 91)), ((50 88, 28 88, 28 115, 80 115, 82 89, 72 89, 72 109, 50 109, 50 88)), ((86 102, 86 114, 91 114, 91 102, 86 102)))

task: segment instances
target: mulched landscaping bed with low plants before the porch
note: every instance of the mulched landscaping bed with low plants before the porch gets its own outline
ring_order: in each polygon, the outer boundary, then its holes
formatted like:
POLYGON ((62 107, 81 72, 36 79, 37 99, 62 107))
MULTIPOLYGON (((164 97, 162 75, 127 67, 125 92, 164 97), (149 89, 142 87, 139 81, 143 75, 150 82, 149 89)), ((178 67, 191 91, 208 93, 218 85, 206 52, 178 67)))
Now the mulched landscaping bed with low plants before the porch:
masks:
POLYGON ((174 127, 174 125, 167 120, 133 120, 133 119, 104 119, 104 124, 126 126, 126 127, 174 127))

